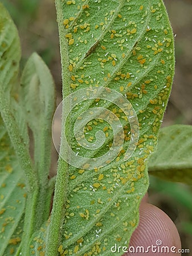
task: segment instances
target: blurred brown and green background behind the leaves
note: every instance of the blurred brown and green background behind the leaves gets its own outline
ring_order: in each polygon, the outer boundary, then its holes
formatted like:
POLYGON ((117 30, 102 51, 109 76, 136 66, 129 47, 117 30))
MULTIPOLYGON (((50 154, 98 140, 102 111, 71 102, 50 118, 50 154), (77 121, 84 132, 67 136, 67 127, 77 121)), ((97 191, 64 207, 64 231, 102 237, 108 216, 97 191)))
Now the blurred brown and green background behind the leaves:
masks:
MULTIPOLYGON (((55 4, 53 0, 3 0, 22 43, 21 68, 36 51, 43 57, 56 82, 57 104, 61 101, 61 67, 55 4)), ((176 75, 162 126, 192 125, 192 1, 166 0, 176 44, 176 75)), ((55 152, 55 151, 54 151, 55 152)), ((53 153, 52 172, 57 155, 53 153)), ((166 212, 176 224, 182 248, 192 255, 192 188, 151 177, 149 201, 166 212)))

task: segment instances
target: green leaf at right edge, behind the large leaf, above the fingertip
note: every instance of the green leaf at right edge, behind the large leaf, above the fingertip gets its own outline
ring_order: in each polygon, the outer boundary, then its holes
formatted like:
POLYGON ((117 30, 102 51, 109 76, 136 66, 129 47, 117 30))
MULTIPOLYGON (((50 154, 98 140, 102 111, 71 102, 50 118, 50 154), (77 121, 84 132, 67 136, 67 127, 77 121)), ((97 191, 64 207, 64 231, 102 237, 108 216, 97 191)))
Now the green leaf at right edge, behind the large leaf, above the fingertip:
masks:
POLYGON ((173 125, 160 130, 158 148, 149 160, 149 174, 192 184, 192 126, 173 125))

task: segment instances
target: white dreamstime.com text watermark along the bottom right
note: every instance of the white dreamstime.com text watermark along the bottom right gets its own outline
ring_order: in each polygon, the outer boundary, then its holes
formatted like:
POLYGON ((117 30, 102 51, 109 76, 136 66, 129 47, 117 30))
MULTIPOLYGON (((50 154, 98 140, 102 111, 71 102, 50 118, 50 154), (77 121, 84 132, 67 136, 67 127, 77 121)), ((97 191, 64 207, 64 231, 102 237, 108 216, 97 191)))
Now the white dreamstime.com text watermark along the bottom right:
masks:
POLYGON ((190 253, 190 249, 177 249, 176 246, 164 246, 162 245, 161 240, 156 241, 156 245, 151 246, 118 246, 116 243, 111 247, 111 253, 140 253, 141 255, 144 253, 190 253))

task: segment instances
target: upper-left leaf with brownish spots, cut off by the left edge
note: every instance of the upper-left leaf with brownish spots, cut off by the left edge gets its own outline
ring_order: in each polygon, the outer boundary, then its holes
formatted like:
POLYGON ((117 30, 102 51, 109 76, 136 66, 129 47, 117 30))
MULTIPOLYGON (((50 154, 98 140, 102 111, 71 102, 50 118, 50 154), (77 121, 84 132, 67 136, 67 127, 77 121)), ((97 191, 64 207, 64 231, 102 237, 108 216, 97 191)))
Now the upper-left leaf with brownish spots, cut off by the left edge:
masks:
MULTIPOLYGON (((18 31, 5 7, 0 3, 0 112, 6 123, 9 136, 14 147, 20 150, 20 141, 28 147, 27 124, 18 104, 18 86, 21 49, 18 31), (15 135, 15 130, 19 134, 15 135)), ((21 163, 21 162, 20 162, 21 163)), ((23 163, 24 164, 24 163, 23 163)), ((21 164, 22 166, 22 164, 21 164)))

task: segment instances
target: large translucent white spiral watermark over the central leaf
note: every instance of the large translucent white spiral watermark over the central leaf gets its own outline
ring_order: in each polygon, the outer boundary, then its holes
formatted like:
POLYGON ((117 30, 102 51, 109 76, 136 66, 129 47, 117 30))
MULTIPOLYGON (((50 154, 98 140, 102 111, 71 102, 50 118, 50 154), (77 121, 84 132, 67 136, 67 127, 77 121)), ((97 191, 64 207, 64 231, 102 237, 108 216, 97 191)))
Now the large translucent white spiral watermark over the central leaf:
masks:
POLYGON ((87 101, 87 104, 89 104, 89 100, 92 102, 95 100, 103 100, 104 102, 108 102, 109 105, 114 104, 124 114, 124 118, 127 118, 127 121, 130 123, 130 144, 124 154, 124 161, 128 160, 135 151, 139 140, 139 121, 137 119, 137 114, 130 101, 128 101, 121 93, 101 86, 84 88, 69 94, 69 96, 61 101, 60 105, 56 109, 52 123, 52 137, 53 143, 55 144, 55 148, 60 157, 64 159, 65 162, 76 168, 93 170, 95 168, 104 167, 108 163, 112 162, 112 160, 114 160, 122 150, 124 143, 124 130, 120 119, 111 110, 99 107, 97 104, 94 107, 88 106, 86 110, 84 108, 81 109, 82 102, 87 101), (86 150, 98 150, 105 143, 106 139, 105 132, 103 130, 98 130, 95 133, 96 141, 94 143, 87 141, 84 135, 87 123, 94 119, 102 119, 111 126, 113 131, 113 142, 112 146, 105 154, 98 156, 97 158, 87 158, 85 155, 82 156, 78 154, 79 152, 74 152, 72 150, 72 147, 68 143, 67 135, 65 134, 66 121, 72 110, 75 112, 77 111, 80 114, 74 122, 74 129, 71 132, 74 133, 74 137, 76 138, 78 145, 86 148, 86 150), (61 145, 60 139, 58 139, 58 126, 60 126, 59 137, 62 130, 61 145), (62 145, 64 146, 62 147, 62 145), (60 150, 60 146, 63 150, 60 150))

